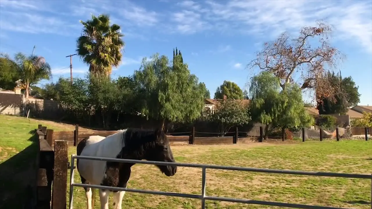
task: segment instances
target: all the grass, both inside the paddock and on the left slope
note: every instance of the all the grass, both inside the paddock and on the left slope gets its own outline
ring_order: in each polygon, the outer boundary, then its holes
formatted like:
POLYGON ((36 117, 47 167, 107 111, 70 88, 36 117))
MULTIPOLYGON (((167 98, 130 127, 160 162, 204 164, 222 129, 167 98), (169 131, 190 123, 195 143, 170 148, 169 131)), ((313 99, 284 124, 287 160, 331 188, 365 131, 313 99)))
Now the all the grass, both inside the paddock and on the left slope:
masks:
MULTIPOLYGON (((38 124, 55 131, 74 126, 44 120, 0 115, 0 208, 21 208, 34 180, 37 146, 30 131, 38 124), (19 196, 21 195, 21 196, 19 196), (5 203, 5 204, 3 204, 5 203), (12 203, 11 205, 9 203, 12 203)), ((177 161, 259 168, 279 168, 343 173, 372 172, 372 141, 307 141, 294 144, 252 143, 237 145, 173 146, 177 161)), ((69 154, 76 153, 76 147, 69 154)), ((68 175, 69 176, 69 175, 68 175)), ((76 182, 79 182, 77 171, 76 182)), ((154 165, 134 165, 129 188, 201 193, 201 169, 179 167, 166 177, 154 165)), ((311 205, 367 209, 371 180, 309 177, 207 169, 207 195, 270 200, 311 205)), ((68 197, 68 194, 67 194, 68 197)), ((74 209, 85 209, 84 189, 74 189, 74 209)), ((112 195, 110 196, 112 207, 112 195)), ((96 194, 95 208, 99 208, 96 194)), ((198 209, 200 201, 177 197, 126 193, 123 209, 198 209)), ((275 208, 207 201, 209 209, 275 208)))

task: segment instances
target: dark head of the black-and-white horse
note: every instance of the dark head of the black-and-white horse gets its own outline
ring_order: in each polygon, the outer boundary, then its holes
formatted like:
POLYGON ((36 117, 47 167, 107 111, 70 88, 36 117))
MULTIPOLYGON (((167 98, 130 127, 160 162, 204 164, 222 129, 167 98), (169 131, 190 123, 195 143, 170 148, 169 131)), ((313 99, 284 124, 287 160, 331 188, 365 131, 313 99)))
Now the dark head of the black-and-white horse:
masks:
MULTIPOLYGON (((149 161, 163 161, 163 162, 176 162, 174 160, 172 150, 170 149, 169 140, 162 129, 155 131, 155 143, 151 149, 148 149, 145 154, 145 159, 149 161)), ((167 176, 173 176, 177 172, 175 165, 156 165, 160 171, 167 176)))

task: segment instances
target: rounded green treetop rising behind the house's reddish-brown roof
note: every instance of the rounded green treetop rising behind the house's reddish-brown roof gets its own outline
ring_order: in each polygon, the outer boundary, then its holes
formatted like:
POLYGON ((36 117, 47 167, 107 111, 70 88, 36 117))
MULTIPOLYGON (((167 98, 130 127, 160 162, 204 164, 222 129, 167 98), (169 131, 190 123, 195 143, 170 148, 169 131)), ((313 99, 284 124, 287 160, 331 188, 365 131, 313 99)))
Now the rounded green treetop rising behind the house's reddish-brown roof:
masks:
POLYGON ((224 95, 226 95, 228 99, 244 98, 243 91, 240 89, 238 84, 226 80, 221 84, 221 86, 217 87, 217 90, 214 93, 214 99, 223 99, 224 95))

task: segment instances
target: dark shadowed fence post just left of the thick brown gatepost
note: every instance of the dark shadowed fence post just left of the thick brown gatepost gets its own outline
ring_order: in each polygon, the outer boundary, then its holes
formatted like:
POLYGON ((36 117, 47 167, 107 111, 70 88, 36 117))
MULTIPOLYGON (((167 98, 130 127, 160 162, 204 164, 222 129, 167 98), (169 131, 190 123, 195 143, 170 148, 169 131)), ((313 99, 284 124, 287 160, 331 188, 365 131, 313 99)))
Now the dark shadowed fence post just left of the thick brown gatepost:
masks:
POLYGON ((50 209, 51 190, 48 188, 47 170, 40 168, 37 175, 36 208, 50 209))

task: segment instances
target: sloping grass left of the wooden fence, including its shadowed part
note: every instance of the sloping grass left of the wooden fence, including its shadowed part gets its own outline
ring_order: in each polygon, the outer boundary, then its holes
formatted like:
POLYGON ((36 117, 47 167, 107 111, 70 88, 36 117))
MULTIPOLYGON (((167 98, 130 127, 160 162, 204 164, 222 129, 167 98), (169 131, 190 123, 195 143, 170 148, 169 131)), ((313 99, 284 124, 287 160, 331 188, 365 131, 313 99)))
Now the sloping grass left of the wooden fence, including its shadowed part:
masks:
POLYGON ((22 208, 20 200, 32 195, 38 146, 31 131, 38 124, 55 131, 75 129, 72 125, 0 115, 0 208, 22 208))

